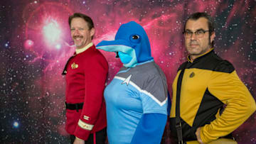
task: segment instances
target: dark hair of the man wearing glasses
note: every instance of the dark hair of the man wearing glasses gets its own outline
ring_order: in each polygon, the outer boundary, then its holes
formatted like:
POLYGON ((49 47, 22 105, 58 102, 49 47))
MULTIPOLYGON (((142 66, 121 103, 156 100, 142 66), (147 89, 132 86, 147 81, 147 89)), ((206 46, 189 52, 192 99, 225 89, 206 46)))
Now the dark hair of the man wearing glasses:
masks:
MULTIPOLYGON (((190 19, 196 21, 199 18, 206 18, 207 19, 209 33, 210 33, 210 35, 212 35, 213 32, 215 31, 215 23, 214 23, 214 19, 210 15, 208 15, 208 13, 204 13, 204 12, 193 13, 190 16, 188 16, 188 19, 186 20, 186 23, 190 19)), ((184 31, 185 31, 185 28, 186 28, 186 23, 185 23, 185 26, 184 26, 184 31)), ((209 40, 210 40, 210 35, 209 35, 209 40)), ((214 42, 214 40, 213 40, 213 42, 214 42)), ((213 44, 214 44, 213 42, 210 44, 212 47, 213 47, 213 44)))

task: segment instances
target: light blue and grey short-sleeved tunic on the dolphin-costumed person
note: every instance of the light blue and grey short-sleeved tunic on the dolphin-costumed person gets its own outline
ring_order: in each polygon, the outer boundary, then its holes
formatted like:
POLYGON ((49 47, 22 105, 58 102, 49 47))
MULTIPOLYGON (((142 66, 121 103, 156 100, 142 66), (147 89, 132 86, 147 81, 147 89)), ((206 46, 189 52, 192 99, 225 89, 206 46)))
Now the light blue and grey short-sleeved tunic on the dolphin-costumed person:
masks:
MULTIPOLYGON (((154 60, 132 68, 122 67, 106 87, 104 96, 110 144, 131 143, 143 114, 167 114, 166 77, 154 60)), ((163 131, 155 135, 161 136, 163 131)))

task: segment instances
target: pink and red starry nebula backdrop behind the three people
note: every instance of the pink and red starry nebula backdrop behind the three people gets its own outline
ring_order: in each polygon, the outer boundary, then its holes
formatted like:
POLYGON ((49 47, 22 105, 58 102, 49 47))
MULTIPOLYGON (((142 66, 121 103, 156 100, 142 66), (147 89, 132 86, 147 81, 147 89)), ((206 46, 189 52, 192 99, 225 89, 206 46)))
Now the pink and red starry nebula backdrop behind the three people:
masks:
MULTIPOLYGON (((186 60, 183 23, 206 11, 215 18, 215 52, 233 63, 256 98, 255 0, 1 0, 0 1, 0 143, 69 143, 65 132, 65 62, 75 50, 68 16, 91 16, 93 42, 113 40, 122 23, 137 21, 149 35, 154 60, 171 84, 186 60)), ((114 53, 108 82, 122 67, 114 53)), ((166 129, 162 143, 171 143, 166 129)), ((233 136, 256 143, 256 114, 233 136)))

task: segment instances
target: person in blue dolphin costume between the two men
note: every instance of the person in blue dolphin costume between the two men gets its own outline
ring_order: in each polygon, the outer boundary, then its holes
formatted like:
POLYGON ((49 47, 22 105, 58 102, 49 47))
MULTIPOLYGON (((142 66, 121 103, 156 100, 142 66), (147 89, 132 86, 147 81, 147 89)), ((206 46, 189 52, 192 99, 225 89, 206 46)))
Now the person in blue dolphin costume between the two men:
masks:
POLYGON ((134 21, 125 23, 115 40, 103 40, 97 48, 117 52, 124 64, 104 92, 109 143, 161 143, 167 119, 167 83, 151 57, 144 28, 134 21))

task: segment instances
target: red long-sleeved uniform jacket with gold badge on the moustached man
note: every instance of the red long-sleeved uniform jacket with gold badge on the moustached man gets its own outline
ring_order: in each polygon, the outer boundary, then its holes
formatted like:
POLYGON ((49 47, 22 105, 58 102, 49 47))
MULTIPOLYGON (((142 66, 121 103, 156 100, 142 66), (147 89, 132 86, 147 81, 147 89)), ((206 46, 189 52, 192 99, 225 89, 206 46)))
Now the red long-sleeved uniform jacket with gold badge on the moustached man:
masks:
POLYGON ((83 140, 107 126, 103 97, 107 60, 95 45, 90 43, 87 46, 90 48, 70 57, 63 71, 66 75, 66 103, 84 103, 78 111, 66 109, 65 130, 83 140))

